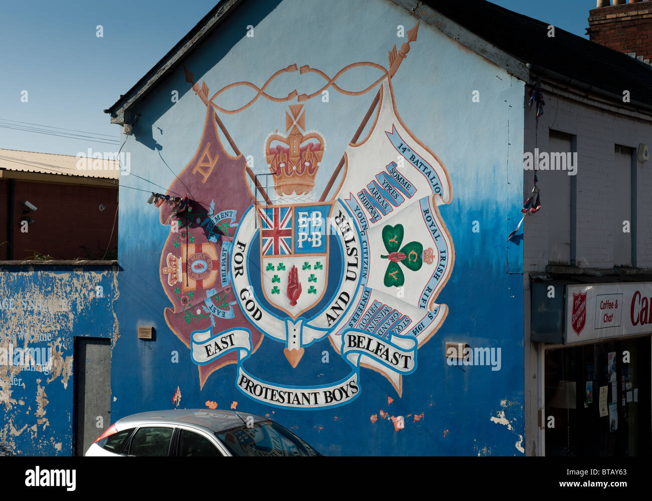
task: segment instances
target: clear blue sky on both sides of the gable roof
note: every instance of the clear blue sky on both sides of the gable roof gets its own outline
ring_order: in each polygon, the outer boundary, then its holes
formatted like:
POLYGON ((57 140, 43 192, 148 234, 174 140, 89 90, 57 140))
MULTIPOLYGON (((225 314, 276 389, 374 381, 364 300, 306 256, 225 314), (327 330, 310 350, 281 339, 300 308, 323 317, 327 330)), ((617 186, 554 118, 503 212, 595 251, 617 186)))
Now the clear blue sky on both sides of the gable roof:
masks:
MULTIPOLYGON (((117 151, 120 128, 102 110, 130 89, 215 3, 3 1, 0 148, 70 155, 88 148, 117 151), (96 36, 97 25, 102 25, 102 37, 96 36), (22 102, 23 91, 27 102, 22 102), (61 128, 61 134, 10 128, 33 128, 16 122, 61 128), (70 134, 93 139, 61 137, 70 134)), ((493 3, 579 36, 585 36, 589 10, 596 5, 595 0, 493 3)))

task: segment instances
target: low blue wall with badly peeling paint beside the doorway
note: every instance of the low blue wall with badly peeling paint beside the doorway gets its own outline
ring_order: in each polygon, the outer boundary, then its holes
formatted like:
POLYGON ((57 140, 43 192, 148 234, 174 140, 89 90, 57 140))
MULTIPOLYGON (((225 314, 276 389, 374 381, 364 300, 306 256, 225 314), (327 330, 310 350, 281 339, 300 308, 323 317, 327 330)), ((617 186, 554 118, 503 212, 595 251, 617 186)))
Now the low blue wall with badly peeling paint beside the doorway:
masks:
POLYGON ((115 266, 0 266, 0 453, 72 454, 74 337, 115 342, 116 298, 115 266))

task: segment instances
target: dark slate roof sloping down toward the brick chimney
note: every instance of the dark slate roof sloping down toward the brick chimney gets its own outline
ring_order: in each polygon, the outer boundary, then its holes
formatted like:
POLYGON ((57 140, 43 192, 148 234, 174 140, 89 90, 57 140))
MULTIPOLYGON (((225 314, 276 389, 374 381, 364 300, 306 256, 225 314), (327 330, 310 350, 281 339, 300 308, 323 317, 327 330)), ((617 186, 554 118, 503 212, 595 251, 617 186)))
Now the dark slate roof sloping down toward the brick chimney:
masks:
MULTIPOLYGON (((652 106, 652 67, 632 57, 484 0, 425 0, 424 4, 524 63, 542 66, 652 106)), ((587 16, 589 12, 587 10, 587 16)))

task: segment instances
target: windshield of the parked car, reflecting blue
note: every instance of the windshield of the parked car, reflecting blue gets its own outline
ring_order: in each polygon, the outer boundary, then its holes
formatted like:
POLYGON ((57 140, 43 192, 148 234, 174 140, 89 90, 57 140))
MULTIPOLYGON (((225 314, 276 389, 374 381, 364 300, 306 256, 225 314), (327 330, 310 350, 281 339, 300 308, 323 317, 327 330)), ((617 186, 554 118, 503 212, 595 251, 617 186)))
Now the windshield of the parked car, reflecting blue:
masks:
POLYGON ((273 421, 215 433, 234 456, 317 456, 318 451, 273 421))

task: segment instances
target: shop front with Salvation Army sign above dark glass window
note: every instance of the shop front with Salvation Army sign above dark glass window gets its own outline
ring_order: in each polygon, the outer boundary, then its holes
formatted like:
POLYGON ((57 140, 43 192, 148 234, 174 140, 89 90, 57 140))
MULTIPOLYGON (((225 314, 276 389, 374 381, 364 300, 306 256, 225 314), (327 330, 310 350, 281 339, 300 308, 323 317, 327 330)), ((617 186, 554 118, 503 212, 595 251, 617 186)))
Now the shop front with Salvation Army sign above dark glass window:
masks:
POLYGON ((652 282, 539 282, 532 306, 545 454, 649 455, 652 282))

